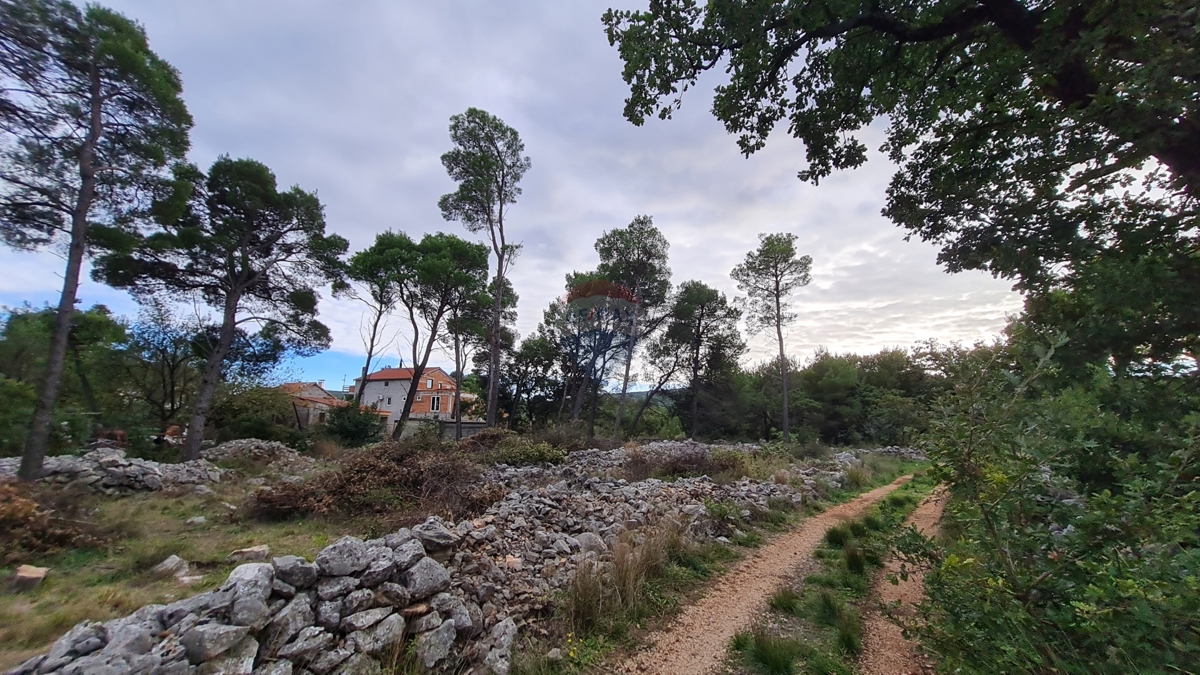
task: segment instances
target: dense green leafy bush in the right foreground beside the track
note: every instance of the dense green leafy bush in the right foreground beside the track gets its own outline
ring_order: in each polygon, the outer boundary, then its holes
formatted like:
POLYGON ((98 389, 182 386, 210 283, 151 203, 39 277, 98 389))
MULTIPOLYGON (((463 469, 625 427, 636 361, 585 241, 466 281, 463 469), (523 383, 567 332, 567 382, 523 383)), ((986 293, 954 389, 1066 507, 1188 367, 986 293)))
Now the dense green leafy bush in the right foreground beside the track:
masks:
POLYGON ((965 675, 1196 671, 1195 375, 1105 363, 1068 378, 1036 356, 947 368, 926 452, 956 536, 900 542, 934 567, 923 641, 965 675))

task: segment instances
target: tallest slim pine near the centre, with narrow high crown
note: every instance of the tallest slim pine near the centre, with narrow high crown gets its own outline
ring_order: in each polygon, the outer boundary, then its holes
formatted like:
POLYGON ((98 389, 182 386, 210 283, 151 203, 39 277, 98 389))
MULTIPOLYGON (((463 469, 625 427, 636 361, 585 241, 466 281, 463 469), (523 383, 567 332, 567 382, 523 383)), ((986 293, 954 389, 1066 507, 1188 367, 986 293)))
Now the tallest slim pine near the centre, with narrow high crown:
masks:
POLYGON ((454 149, 442 155, 450 178, 458 190, 438 199, 442 217, 462 222, 469 232, 487 232, 496 255, 497 292, 492 298, 492 324, 488 335, 487 365, 487 425, 496 426, 499 400, 500 331, 504 315, 504 282, 509 268, 521 250, 510 244, 504 231, 508 207, 521 196, 521 178, 529 171, 529 157, 523 156, 524 143, 515 129, 499 118, 478 108, 450 118, 450 141, 454 149))

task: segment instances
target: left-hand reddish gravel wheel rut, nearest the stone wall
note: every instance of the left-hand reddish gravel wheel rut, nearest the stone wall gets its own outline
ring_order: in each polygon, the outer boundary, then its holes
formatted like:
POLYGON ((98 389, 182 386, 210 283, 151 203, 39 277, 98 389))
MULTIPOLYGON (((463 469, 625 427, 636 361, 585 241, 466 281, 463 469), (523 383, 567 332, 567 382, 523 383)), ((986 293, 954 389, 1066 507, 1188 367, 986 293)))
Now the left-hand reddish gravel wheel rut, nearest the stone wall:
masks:
POLYGON ((749 626, 797 565, 812 555, 826 530, 866 510, 908 480, 898 478, 844 504, 804 520, 742 561, 668 626, 649 637, 649 645, 620 664, 618 673, 704 675, 725 658, 730 639, 749 626))

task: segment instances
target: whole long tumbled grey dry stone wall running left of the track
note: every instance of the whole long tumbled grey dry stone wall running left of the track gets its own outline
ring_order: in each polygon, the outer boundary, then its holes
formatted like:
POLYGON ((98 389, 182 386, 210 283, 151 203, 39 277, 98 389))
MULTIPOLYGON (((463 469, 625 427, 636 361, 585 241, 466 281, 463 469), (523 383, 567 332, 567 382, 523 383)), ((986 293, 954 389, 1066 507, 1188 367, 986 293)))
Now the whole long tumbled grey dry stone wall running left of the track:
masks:
MULTIPOLYGON (((749 515, 811 494, 802 482, 601 477, 624 459, 624 450, 587 450, 560 467, 497 467, 491 478, 511 491, 480 518, 344 537, 313 561, 241 565, 216 590, 79 623, 8 675, 377 674, 401 649, 430 670, 504 675, 524 620, 623 532, 674 518, 695 537, 720 538, 728 524, 706 504, 749 515)), ((814 471, 828 479, 839 470, 814 471)))

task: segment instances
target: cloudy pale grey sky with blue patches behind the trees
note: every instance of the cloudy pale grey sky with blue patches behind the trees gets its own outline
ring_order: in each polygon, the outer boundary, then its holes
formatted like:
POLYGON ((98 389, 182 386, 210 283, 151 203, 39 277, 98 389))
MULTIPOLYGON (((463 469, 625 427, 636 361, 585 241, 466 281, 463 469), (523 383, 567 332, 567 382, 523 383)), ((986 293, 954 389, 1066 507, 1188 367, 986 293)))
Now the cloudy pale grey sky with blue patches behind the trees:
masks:
MULTIPOLYGON (((791 232, 812 257, 812 282, 797 292, 791 356, 818 347, 868 353, 924 339, 990 340, 1020 295, 983 273, 949 275, 935 246, 905 241, 880 215, 894 171, 878 153, 862 168, 812 186, 800 143, 782 132, 744 157, 712 117, 709 73, 668 121, 636 127, 622 117, 628 88, 600 16, 617 2, 510 0, 107 0, 145 26, 174 65, 196 127, 191 160, 252 157, 281 187, 316 191, 329 229, 368 246, 378 232, 445 231, 438 197, 455 189, 439 157, 451 115, 488 110, 516 129, 533 167, 509 213, 523 243, 511 279, 517 329, 535 330, 564 294, 564 275, 594 268, 605 231, 650 215, 671 241, 673 282, 697 279, 730 297, 730 270, 763 232, 791 232)), ((883 141, 882 123, 860 137, 883 141)), ((56 303, 62 259, 53 251, 0 250, 0 305, 56 303)), ((80 305, 134 316, 124 292, 85 281, 80 305)), ((286 378, 352 380, 366 353, 362 307, 323 294, 330 351, 299 359, 286 378)), ((395 322, 398 328, 400 322, 395 322)), ((396 341, 383 363, 395 365, 396 341)), ((748 363, 770 358, 769 335, 749 340, 748 363)), ((404 358, 407 364, 409 359, 404 358)), ((436 356, 439 365, 448 365, 436 356)))

